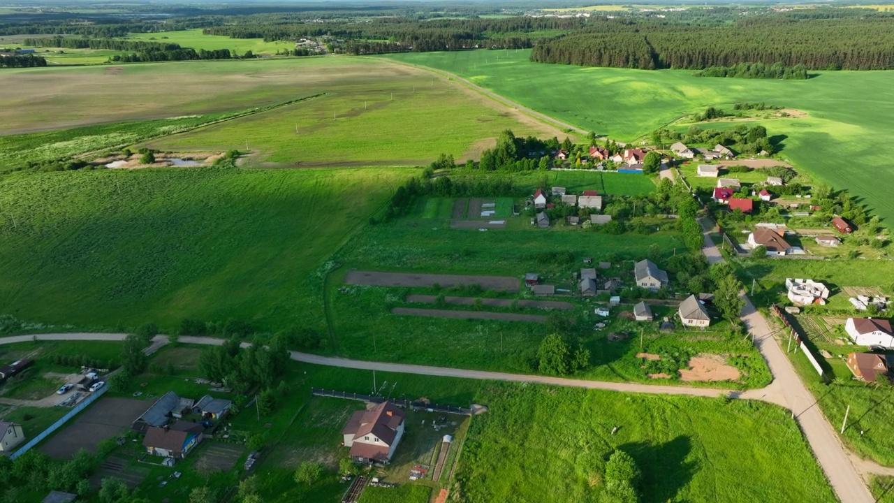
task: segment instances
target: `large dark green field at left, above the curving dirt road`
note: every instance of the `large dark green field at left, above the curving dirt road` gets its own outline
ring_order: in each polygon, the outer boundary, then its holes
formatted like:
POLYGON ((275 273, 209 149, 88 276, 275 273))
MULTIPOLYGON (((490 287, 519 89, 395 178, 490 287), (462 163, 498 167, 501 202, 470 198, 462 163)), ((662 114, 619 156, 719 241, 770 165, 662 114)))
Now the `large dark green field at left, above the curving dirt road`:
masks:
POLYGON ((110 329, 184 317, 322 324, 325 260, 413 172, 150 169, 7 175, 0 312, 110 329), (363 194, 344 202, 347 194, 363 194), (14 217, 14 223, 13 223, 14 217))

